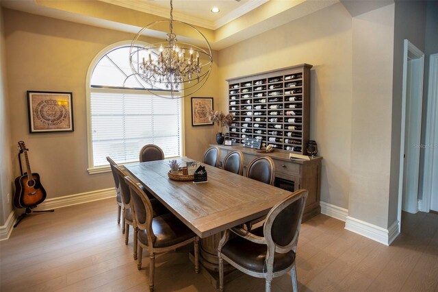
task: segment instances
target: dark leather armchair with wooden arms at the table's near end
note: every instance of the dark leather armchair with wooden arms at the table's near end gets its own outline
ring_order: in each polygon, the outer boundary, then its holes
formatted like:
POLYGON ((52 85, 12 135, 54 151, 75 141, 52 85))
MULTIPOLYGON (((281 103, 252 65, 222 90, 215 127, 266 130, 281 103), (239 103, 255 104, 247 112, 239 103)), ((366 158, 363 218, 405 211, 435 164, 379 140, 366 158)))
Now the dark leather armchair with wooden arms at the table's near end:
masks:
POLYGON ((263 226, 251 232, 231 228, 238 236, 230 240, 229 230, 224 232, 218 245, 220 291, 224 291, 223 260, 250 276, 265 278, 267 292, 272 278, 291 271, 293 291, 298 291, 296 245, 307 193, 301 189, 287 196, 272 207, 263 226))

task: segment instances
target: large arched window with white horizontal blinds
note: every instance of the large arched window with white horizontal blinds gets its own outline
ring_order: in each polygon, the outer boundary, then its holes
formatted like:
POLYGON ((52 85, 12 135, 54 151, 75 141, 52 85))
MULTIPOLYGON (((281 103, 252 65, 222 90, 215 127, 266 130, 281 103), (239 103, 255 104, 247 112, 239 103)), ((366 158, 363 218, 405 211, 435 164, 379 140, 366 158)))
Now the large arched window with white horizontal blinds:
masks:
POLYGON ((88 70, 90 173, 106 171, 106 156, 121 164, 138 161, 146 144, 161 147, 166 158, 183 153, 181 99, 156 97, 140 88, 131 75, 129 46, 104 49, 88 70))

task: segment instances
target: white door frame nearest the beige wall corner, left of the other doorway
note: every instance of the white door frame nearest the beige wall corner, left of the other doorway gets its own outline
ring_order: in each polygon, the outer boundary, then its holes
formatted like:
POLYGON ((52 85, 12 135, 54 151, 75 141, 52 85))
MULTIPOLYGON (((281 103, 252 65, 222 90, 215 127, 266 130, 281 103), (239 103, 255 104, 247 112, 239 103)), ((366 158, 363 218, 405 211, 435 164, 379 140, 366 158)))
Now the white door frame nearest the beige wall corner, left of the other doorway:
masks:
MULTIPOLYGON (((419 86, 417 86, 417 94, 421 97, 418 102, 420 103, 420 110, 422 108, 422 97, 423 97, 423 74, 424 74, 424 53, 415 47, 409 40, 405 39, 403 42, 403 77, 402 77, 402 121, 400 129, 400 173, 398 179, 398 231, 401 231, 402 222, 402 198, 403 198, 403 182, 404 182, 404 154, 405 154, 405 136, 406 136, 406 107, 407 107, 407 70, 409 60, 420 60, 421 70, 418 72, 417 77, 421 80, 419 86), (410 56, 413 56, 411 58, 410 56)), ((417 123, 420 125, 419 131, 421 131, 421 114, 417 117, 417 123)), ((420 142, 420 141, 419 141, 420 142)), ((418 167, 420 170, 420 145, 418 145, 418 167)), ((419 180, 419 178, 414 178, 414 180, 419 180)), ((418 182, 417 182, 418 183, 418 182)), ((410 198, 412 199, 412 198, 410 198)), ((415 206, 413 207, 417 210, 417 197, 415 198, 415 206)))

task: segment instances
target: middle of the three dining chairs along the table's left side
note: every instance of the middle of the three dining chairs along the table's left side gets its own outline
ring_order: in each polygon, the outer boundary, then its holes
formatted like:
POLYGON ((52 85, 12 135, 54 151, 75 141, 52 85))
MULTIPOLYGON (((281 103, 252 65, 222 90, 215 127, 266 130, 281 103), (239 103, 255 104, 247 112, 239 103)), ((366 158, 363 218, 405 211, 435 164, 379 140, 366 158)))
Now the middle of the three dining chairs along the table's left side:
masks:
MULTIPOLYGON (((125 171, 120 169, 118 165, 114 165, 114 171, 116 172, 118 182, 119 182, 119 188, 120 188, 120 197, 122 198, 122 206, 123 206, 123 221, 125 222, 125 225, 122 227, 122 233, 125 233, 125 244, 128 244, 129 242, 129 226, 132 226, 133 228, 133 257, 134 260, 137 259, 137 225, 136 220, 133 215, 133 208, 132 208, 132 201, 131 201, 131 193, 129 191, 129 187, 127 183, 125 182, 125 176, 127 175, 125 171)), ((138 187, 140 188, 140 186, 138 187)), ((144 189, 144 188, 143 188, 144 189)), ((142 188, 142 192, 144 193, 142 188)), ((159 216, 162 214, 166 214, 168 212, 168 209, 160 203, 157 199, 151 199, 151 204, 153 204, 154 212, 153 216, 159 216)))

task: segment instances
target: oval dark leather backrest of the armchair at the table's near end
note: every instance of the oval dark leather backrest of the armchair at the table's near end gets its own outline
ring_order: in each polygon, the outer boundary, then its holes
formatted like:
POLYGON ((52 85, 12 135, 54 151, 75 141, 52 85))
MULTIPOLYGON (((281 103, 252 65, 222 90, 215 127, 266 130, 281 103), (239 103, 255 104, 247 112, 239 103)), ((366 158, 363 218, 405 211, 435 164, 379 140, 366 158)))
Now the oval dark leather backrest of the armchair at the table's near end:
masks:
POLYGON ((295 191, 272 207, 266 216, 263 233, 270 251, 268 254, 272 253, 272 261, 274 252, 296 252, 308 193, 304 189, 295 191))

